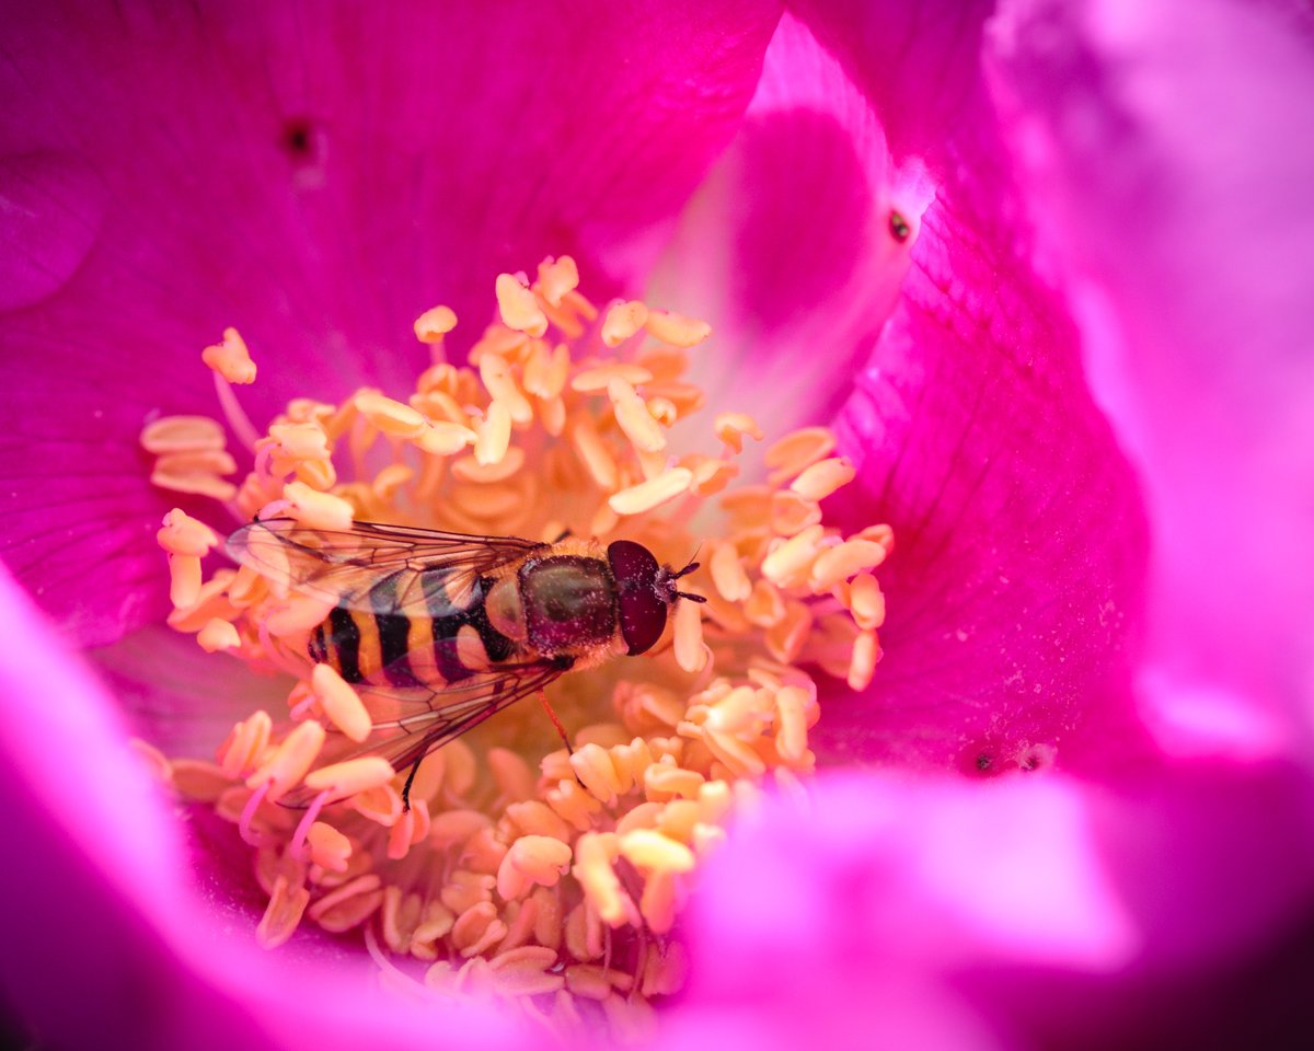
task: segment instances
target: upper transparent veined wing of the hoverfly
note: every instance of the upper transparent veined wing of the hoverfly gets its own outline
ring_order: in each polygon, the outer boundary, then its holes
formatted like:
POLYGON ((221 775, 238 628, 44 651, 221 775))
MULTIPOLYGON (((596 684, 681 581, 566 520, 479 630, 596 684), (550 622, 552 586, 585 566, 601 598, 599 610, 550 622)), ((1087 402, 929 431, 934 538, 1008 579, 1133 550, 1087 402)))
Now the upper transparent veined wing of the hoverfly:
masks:
POLYGON ((547 544, 356 522, 313 529, 289 518, 243 526, 229 554, 276 586, 335 606, 417 616, 435 603, 464 608, 481 577, 547 544))

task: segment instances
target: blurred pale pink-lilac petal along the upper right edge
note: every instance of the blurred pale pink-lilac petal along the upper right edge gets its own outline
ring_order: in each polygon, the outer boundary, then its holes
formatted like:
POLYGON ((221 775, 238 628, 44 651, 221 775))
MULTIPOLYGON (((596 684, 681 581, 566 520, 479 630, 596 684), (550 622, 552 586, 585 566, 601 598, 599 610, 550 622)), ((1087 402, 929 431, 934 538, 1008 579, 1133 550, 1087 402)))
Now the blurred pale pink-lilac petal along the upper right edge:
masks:
POLYGON ((1261 753, 1314 712, 1314 21, 1180 14, 1008 4, 992 55, 1146 480, 1147 720, 1167 748, 1261 753))

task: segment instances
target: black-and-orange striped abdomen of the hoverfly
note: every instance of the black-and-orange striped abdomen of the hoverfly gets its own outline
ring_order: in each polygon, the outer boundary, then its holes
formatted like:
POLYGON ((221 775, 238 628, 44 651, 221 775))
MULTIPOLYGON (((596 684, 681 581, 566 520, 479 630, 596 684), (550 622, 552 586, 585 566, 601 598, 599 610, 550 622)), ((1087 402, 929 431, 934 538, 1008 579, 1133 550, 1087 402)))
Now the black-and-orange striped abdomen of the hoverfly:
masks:
MULTIPOLYGON (((310 658, 336 669, 351 683, 440 688, 489 665, 507 661, 515 644, 489 624, 485 602, 493 585, 480 579, 457 608, 440 574, 419 574, 424 614, 399 614, 397 591, 417 583, 413 570, 399 570, 369 590, 369 608, 352 596, 328 614, 310 636, 310 658)), ((418 603, 406 603, 414 610, 418 603)))

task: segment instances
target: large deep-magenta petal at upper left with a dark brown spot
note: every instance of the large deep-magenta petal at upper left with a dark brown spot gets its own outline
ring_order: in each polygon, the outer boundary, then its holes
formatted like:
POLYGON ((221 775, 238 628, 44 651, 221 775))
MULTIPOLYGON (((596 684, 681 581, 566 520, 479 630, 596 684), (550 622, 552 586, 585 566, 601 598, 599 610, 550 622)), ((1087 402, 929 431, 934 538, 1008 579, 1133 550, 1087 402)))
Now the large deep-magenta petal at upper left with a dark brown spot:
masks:
POLYGON ((152 414, 214 411, 201 347, 242 331, 263 422, 293 394, 409 389, 413 319, 447 302, 468 340, 499 269, 573 252, 595 289, 632 282, 637 239, 733 134, 777 17, 9 12, 0 552, 83 641, 158 614, 142 582, 168 501, 135 439, 152 414))

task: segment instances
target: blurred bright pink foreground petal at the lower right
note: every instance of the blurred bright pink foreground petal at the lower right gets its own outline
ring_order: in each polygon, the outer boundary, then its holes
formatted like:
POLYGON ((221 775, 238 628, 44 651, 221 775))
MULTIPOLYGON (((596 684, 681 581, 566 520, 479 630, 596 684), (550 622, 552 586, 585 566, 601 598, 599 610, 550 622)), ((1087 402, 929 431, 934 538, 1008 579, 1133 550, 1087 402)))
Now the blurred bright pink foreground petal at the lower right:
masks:
MULTIPOLYGON (((903 991, 999 1038, 1100 1031, 1091 991, 1252 946, 1314 875, 1311 786, 1277 766, 816 788, 767 803, 708 866, 686 1019, 761 1013, 788 1047, 817 1018, 859 1031, 903 991), (1037 996, 1058 973, 1068 995, 1037 996)), ((934 1040, 936 1016, 913 1017, 934 1040)))

